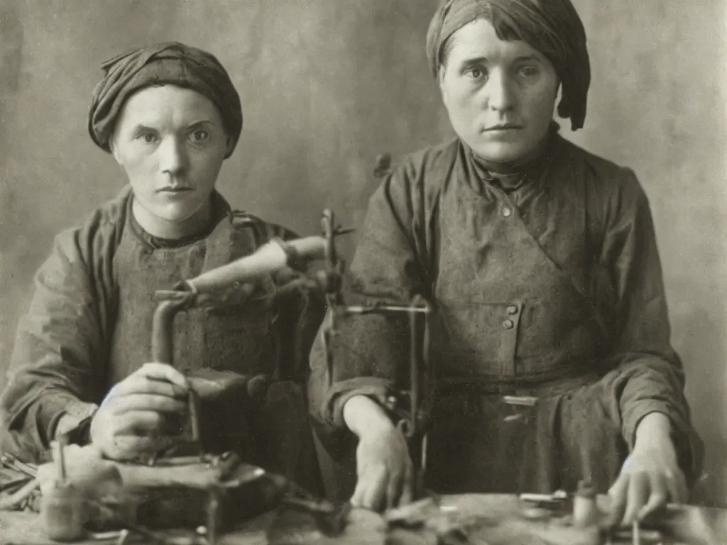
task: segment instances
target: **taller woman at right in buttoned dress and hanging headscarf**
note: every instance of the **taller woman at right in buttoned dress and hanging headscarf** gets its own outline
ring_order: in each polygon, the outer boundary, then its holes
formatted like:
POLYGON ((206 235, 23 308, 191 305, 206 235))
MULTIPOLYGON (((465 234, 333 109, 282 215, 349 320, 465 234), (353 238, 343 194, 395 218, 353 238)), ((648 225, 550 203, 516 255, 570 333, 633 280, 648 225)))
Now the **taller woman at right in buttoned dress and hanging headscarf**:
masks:
MULTIPOLYGON (((407 157, 372 196, 348 293, 433 304, 425 483, 516 493, 590 480, 625 522, 683 501, 701 443, 646 195, 553 121, 559 90, 560 116, 585 120, 577 12, 569 0, 445 1, 427 55, 457 138, 407 157)), ((321 342, 311 354, 313 416, 358 437, 352 501, 374 509, 411 498, 388 409, 405 335, 397 320, 348 318, 333 376, 321 342)))

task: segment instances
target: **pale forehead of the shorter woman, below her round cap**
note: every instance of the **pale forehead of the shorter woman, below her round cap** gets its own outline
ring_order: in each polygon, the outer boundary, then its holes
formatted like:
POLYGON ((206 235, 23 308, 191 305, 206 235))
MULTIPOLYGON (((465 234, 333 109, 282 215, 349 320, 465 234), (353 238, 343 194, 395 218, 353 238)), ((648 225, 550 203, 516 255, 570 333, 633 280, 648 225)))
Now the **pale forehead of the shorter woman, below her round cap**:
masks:
POLYGON ((175 85, 150 86, 134 93, 124 103, 117 124, 185 124, 220 122, 220 111, 212 100, 193 89, 175 85))

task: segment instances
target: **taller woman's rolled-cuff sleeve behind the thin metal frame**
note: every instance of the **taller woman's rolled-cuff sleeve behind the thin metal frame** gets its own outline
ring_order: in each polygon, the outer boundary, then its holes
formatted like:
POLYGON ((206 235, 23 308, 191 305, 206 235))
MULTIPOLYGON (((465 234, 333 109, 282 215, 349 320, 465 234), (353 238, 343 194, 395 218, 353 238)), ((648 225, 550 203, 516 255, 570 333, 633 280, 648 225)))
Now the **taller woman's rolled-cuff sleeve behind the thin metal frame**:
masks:
MULTIPOLYGON (((346 304, 408 304, 427 297, 424 250, 417 220, 421 202, 406 166, 385 178, 371 196, 361 238, 342 291, 346 304)), ((342 408, 355 395, 379 403, 397 393, 408 373, 409 325, 406 317, 331 314, 313 343, 308 395, 310 412, 324 428, 345 429, 342 408), (326 344, 331 359, 326 357, 326 344)))

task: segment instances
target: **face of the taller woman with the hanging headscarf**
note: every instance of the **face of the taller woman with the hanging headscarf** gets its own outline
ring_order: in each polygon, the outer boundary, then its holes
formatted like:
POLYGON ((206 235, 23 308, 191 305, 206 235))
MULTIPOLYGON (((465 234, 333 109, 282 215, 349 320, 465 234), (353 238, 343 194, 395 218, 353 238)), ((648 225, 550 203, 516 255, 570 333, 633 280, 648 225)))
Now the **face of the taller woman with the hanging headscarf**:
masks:
POLYGON ((439 84, 454 131, 488 161, 524 158, 553 120, 555 68, 525 41, 499 39, 485 19, 451 40, 439 84))

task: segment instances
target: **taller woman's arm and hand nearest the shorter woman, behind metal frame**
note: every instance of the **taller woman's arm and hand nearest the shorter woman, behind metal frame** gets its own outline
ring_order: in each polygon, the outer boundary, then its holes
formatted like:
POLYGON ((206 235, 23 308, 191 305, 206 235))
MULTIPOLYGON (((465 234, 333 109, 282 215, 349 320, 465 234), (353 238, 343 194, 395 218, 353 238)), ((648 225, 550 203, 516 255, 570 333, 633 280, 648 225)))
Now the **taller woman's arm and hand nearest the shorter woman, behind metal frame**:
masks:
MULTIPOLYGON (((407 303, 424 294, 425 275, 417 233, 416 191, 403 169, 385 179, 371 197, 361 240, 344 289, 346 304, 407 303), (414 194, 414 198, 412 195, 414 194)), ((419 208, 420 209, 420 208, 419 208)), ((332 368, 326 361, 324 332, 310 355, 310 413, 329 432, 327 439, 350 429, 358 439, 356 489, 351 503, 382 509, 411 500, 412 468, 406 440, 383 408, 408 376, 408 317, 353 315, 339 317, 329 338, 332 368)), ((332 448, 338 456, 339 446, 332 448)))

